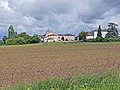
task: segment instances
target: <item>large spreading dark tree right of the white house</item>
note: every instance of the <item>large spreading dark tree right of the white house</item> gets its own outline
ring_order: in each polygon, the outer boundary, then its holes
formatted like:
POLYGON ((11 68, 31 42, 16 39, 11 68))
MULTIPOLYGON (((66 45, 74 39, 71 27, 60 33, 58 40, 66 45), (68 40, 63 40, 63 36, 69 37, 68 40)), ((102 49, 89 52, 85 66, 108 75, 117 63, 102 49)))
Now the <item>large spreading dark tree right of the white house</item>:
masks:
POLYGON ((117 38, 119 33, 118 33, 118 30, 116 28, 116 26, 118 26, 117 24, 115 23, 108 23, 108 34, 106 34, 106 38, 117 38))

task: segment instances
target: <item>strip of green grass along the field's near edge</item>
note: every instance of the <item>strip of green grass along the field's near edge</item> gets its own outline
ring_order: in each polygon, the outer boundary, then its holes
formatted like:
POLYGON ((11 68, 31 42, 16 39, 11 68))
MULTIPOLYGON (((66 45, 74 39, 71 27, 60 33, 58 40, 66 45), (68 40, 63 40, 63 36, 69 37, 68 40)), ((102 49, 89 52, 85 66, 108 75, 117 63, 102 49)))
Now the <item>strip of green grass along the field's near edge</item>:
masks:
POLYGON ((120 90, 120 72, 55 78, 1 90, 120 90))

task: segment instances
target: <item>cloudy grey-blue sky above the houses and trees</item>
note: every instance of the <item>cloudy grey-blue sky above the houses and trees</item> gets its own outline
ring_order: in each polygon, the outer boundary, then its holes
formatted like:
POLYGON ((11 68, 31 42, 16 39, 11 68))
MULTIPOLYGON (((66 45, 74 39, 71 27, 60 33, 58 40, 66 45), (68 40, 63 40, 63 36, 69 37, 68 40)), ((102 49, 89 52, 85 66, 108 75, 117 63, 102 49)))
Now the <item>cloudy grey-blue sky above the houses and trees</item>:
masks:
POLYGON ((120 0, 0 0, 0 37, 9 25, 30 35, 48 28, 77 35, 99 24, 107 28, 108 22, 120 29, 120 0))

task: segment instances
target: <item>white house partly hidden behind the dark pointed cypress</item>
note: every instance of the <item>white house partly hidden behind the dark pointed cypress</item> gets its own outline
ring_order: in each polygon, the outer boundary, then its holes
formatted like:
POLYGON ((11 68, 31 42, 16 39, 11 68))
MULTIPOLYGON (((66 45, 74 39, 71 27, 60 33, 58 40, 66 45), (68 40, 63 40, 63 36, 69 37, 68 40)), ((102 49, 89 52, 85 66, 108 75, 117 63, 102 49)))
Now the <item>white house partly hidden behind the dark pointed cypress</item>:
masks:
MULTIPOLYGON (((96 38, 98 30, 93 30, 91 32, 87 32, 86 39, 96 38)), ((107 29, 101 30, 102 37, 105 38, 106 34, 108 33, 107 29)))

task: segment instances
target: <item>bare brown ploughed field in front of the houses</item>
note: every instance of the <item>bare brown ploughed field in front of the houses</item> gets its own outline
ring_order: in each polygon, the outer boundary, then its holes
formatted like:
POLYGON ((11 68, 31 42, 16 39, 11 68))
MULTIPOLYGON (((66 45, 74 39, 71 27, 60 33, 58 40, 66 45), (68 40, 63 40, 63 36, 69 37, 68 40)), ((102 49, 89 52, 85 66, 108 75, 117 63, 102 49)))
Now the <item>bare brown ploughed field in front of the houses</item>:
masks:
POLYGON ((120 44, 0 47, 0 87, 120 70, 120 44))

